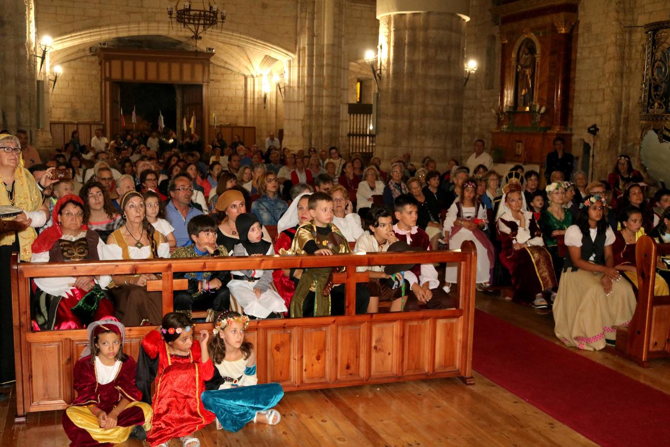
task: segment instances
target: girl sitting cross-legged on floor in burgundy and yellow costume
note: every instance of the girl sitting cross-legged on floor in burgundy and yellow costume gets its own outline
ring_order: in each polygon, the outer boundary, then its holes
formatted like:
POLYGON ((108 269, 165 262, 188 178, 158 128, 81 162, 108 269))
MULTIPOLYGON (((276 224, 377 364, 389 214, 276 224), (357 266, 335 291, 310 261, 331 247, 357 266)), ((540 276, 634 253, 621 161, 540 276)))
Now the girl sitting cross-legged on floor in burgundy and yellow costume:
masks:
POLYGON ((151 407, 135 386, 135 361, 123 353, 125 328, 115 320, 88 326, 88 346, 74 364, 77 397, 63 415, 70 446, 111 446, 144 440, 151 407))

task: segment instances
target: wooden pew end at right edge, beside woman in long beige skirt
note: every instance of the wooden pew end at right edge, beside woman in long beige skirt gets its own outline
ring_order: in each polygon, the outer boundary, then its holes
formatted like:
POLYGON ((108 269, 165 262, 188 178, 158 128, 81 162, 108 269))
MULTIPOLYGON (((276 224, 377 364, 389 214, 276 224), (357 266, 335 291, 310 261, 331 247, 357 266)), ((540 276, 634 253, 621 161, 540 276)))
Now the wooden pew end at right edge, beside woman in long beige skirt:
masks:
POLYGON ((651 359, 670 357, 670 296, 654 295, 657 256, 669 253, 670 244, 659 245, 649 236, 638 239, 637 306, 628 326, 616 330, 614 352, 645 368, 651 359))

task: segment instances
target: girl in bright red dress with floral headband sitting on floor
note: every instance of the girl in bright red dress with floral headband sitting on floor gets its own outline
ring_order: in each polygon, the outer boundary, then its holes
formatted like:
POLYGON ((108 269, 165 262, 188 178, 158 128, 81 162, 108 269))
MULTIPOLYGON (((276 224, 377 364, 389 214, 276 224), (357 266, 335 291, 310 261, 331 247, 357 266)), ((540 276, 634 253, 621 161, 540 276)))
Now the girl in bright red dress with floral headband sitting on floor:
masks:
POLYGON ((199 342, 194 342, 193 336, 191 319, 170 312, 161 326, 142 340, 137 387, 149 403, 151 382, 157 378, 153 428, 147 438, 151 446, 167 447, 172 438, 180 438, 184 447, 198 447, 200 440, 194 432, 214 422, 214 413, 207 411, 200 399, 205 381, 214 374, 207 350, 209 332, 201 330, 199 342))

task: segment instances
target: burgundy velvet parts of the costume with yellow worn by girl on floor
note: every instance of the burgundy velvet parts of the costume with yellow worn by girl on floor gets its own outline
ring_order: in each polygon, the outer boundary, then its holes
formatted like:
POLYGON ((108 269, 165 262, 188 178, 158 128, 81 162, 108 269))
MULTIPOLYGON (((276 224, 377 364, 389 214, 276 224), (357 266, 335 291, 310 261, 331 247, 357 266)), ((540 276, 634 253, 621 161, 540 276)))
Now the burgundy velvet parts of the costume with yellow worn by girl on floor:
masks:
MULTIPOLYGON (((79 359, 74 364, 74 391, 77 397, 72 401, 72 406, 95 404, 98 408, 109 413, 118 405, 123 397, 131 402, 139 401, 142 393, 135 386, 135 360, 132 357, 123 362, 117 377, 107 383, 100 385, 96 378, 95 364, 91 363, 90 355, 79 359)), ((132 427, 144 425, 144 413, 141 407, 128 407, 121 411, 117 419, 117 426, 132 427)), ((68 438, 72 441, 70 446, 111 446, 111 443, 100 443, 91 438, 90 434, 70 420, 67 412, 63 413, 63 428, 68 438)))

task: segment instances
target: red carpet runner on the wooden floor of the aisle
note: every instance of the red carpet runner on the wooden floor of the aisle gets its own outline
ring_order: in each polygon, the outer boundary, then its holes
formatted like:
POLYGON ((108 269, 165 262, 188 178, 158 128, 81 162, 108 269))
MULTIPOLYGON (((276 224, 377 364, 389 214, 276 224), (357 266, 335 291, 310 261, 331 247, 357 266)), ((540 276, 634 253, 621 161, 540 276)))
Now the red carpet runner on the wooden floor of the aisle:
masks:
POLYGON ((479 310, 472 368, 602 446, 670 445, 670 395, 479 310))

